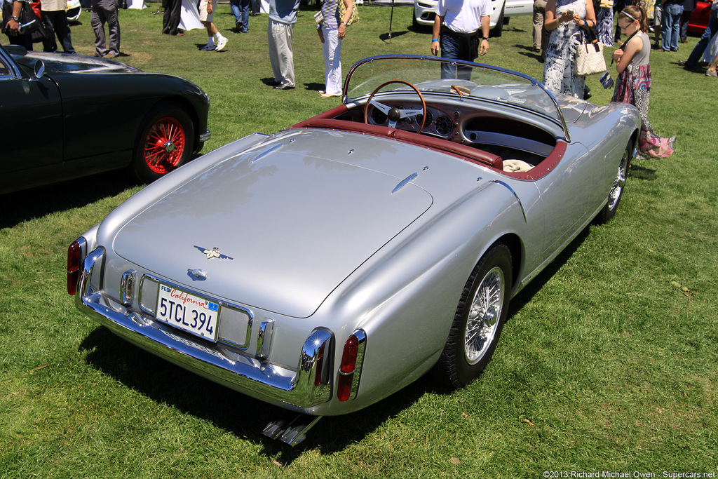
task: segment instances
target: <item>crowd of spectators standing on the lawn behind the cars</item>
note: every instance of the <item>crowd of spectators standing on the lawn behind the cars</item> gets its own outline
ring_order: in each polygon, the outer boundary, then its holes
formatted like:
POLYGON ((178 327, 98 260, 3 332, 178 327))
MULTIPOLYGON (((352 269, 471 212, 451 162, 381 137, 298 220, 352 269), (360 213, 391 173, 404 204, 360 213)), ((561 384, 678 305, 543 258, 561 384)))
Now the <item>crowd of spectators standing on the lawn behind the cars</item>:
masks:
MULTIPOLYGON (((0 0, 12 6, 11 19, 4 20, 10 43, 32 50, 29 34, 20 31, 19 14, 24 1, 37 3, 36 14, 42 19, 45 35, 42 45, 46 52, 57 51, 57 42, 65 53, 75 53, 70 27, 65 15, 66 0, 0 0)), ((90 0, 90 24, 95 32, 97 57, 120 55, 120 27, 118 0, 90 0), (108 25, 109 42, 105 24, 108 25)), ((267 39, 269 60, 274 74, 274 88, 289 90, 295 87, 292 36, 297 22, 300 0, 269 0, 267 39)), ((213 23, 218 0, 200 0, 198 18, 208 33, 204 51, 223 50, 228 43, 213 23)), ((162 33, 180 36, 180 6, 182 0, 163 0, 162 33)), ((533 50, 541 53, 544 62, 543 82, 554 93, 577 98, 589 98, 585 76, 577 73, 577 52, 588 32, 607 46, 620 42, 622 34, 628 39, 612 52, 617 80, 612 101, 635 105, 643 118, 640 150, 645 156, 666 157, 673 152, 673 140, 656 135, 648 121, 648 98, 651 90, 650 55, 652 47, 658 52, 677 52, 679 44, 687 42, 688 18, 696 8, 696 0, 535 0, 533 4, 533 50), (635 4, 632 4, 635 1, 635 4), (614 12, 617 27, 612 34, 614 12), (654 41, 648 36, 653 29, 654 41)), ((258 14, 258 0, 230 0, 235 18, 235 31, 249 29, 249 11, 258 14)), ((325 0, 321 13, 315 15, 317 33, 322 42, 325 59, 325 90, 322 98, 342 93, 341 45, 347 25, 353 19, 353 0, 325 0)), ((489 52, 490 0, 439 0, 436 7, 430 51, 433 55, 473 61, 489 52)), ((687 70, 707 67, 706 75, 716 77, 718 64, 718 0, 714 0, 706 31, 687 60, 679 63, 687 70)), ((37 39, 35 39, 37 41, 37 39)), ((471 69, 442 68, 442 78, 470 78, 471 69)))

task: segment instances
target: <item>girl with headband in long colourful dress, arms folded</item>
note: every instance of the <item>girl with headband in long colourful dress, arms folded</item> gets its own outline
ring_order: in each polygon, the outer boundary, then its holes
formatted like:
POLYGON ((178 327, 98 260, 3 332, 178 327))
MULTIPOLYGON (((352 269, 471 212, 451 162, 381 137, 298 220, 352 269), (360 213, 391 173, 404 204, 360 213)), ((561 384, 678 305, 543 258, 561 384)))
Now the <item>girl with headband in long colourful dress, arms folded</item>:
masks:
POLYGON ((618 14, 618 25, 628 40, 613 52, 618 78, 611 101, 630 103, 640 111, 643 126, 638 137, 638 149, 645 157, 665 158, 673 154, 676 137, 661 138, 648 122, 648 99, 651 95, 651 39, 648 38, 648 18, 641 6, 627 6, 618 14), (622 48, 623 47, 623 48, 622 48))

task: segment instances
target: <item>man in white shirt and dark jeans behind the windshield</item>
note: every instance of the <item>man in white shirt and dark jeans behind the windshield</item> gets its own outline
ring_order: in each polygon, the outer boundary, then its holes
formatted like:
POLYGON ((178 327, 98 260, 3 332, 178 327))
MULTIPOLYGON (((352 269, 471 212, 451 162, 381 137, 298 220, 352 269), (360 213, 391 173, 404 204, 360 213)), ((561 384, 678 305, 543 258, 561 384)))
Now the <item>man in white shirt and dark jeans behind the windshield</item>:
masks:
MULTIPOLYGON (((437 55, 439 47, 442 57, 468 60, 489 51, 490 0, 439 0, 434 18, 432 53, 437 55), (479 34, 481 42, 479 45, 479 34)), ((442 78, 471 77, 470 68, 451 68, 442 65, 442 78)))

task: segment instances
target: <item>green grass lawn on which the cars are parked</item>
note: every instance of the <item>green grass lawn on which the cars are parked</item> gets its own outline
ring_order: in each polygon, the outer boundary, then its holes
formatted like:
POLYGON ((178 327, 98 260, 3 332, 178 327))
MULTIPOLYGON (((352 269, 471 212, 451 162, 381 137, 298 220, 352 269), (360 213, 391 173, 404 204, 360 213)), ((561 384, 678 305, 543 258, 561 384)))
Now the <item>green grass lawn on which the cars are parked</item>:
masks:
MULTIPOLYGON (((119 59, 209 93, 205 152, 338 104, 317 95, 324 62, 312 11, 294 29, 297 88, 275 91, 263 81, 271 78, 266 16, 235 34, 220 5, 226 51, 200 52, 205 32, 161 35, 157 4, 149 5, 120 12, 127 56, 119 59)), ((429 31, 411 28, 411 11, 394 9, 389 39, 391 9, 360 7, 342 45, 345 73, 369 55, 428 54, 429 31)), ((89 14, 80 22, 73 43, 88 55, 89 14)), ((141 186, 113 174, 0 197, 0 477, 715 472, 718 83, 677 65, 697 38, 689 40, 678 53, 651 55, 649 118, 659 134, 678 136, 675 154, 638 159, 616 218, 584 231, 514 299, 485 374, 451 394, 418 381, 322 419, 296 449, 260 434, 281 410, 154 358, 75 310, 65 293, 67 246, 141 186)), ((529 47, 531 19, 513 18, 480 60, 541 79, 529 47)), ((607 103, 612 92, 597 76, 588 81, 592 101, 607 103)))

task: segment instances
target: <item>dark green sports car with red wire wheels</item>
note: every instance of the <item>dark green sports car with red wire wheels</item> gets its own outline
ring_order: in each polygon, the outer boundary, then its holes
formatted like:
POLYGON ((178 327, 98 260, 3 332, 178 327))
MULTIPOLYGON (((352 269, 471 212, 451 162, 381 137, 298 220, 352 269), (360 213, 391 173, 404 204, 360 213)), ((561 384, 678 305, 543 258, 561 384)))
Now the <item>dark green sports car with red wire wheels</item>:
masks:
POLYGON ((184 78, 0 47, 0 194, 113 169, 156 180, 210 139, 209 106, 184 78))

